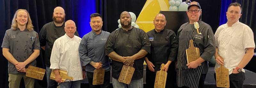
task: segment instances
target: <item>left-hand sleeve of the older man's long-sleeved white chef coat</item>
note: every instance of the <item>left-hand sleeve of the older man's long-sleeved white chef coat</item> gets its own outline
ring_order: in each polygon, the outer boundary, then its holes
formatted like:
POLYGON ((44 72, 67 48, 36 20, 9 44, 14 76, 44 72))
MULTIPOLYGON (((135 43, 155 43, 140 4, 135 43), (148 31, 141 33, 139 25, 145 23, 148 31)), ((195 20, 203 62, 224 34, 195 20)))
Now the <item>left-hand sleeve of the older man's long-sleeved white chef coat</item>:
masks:
POLYGON ((59 64, 60 64, 60 52, 61 52, 61 47, 58 41, 55 41, 52 47, 52 54, 50 58, 50 69, 59 69, 59 64))

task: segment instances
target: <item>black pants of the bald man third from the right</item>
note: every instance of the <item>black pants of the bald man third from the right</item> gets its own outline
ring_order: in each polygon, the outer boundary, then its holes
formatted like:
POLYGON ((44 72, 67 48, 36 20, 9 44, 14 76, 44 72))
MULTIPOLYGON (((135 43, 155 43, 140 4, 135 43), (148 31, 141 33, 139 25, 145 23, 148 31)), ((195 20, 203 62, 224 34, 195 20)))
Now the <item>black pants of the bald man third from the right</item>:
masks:
MULTIPOLYGON (((174 83, 176 83, 175 82, 176 78, 173 78, 174 75, 171 72, 169 72, 169 71, 170 71, 170 69, 168 69, 168 71, 167 71, 167 78, 166 78, 165 88, 175 88, 174 83)), ((152 71, 148 70, 148 67, 147 67, 147 71, 146 71, 146 87, 145 88, 154 88, 155 79, 156 79, 155 72, 152 72, 152 71)))

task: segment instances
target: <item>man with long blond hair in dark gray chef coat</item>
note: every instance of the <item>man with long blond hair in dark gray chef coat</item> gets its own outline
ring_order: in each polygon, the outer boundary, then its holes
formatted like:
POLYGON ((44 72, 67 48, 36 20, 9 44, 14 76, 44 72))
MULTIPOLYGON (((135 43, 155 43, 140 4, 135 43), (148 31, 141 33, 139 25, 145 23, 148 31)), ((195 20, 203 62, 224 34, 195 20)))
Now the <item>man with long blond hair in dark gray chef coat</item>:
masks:
POLYGON ((3 44, 3 55, 8 60, 9 88, 19 88, 21 78, 26 88, 34 88, 34 79, 26 77, 25 68, 36 66, 36 57, 40 46, 38 34, 27 10, 19 9, 12 19, 12 28, 6 30, 3 44))

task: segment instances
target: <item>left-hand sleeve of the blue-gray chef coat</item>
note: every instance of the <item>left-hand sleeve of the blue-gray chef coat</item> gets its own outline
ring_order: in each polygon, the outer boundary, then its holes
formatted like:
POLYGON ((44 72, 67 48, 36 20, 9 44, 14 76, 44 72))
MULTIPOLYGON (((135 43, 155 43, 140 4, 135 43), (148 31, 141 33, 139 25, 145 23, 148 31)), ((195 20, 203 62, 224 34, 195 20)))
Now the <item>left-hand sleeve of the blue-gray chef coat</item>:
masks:
POLYGON ((89 64, 92 59, 88 57, 88 50, 87 50, 87 41, 88 38, 86 39, 86 36, 84 36, 79 44, 79 57, 80 57, 80 61, 82 66, 85 66, 87 64, 89 64))

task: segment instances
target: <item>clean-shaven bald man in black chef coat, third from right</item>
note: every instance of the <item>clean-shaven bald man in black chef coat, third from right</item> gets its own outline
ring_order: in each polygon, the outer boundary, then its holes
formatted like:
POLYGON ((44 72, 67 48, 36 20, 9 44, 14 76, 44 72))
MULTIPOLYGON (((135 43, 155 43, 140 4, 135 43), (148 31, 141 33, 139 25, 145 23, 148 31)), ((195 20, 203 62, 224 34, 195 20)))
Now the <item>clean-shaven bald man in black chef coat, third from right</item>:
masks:
MULTIPOLYGON (((174 31, 165 29, 166 25, 165 16, 163 14, 157 14, 154 19, 155 29, 147 32, 150 46, 150 54, 145 58, 147 63, 146 68, 146 85, 147 88, 154 88, 156 71, 160 71, 161 64, 164 65, 164 71, 168 72, 169 65, 175 61, 178 51, 178 37, 174 31)), ((175 71, 174 65, 171 71, 175 71)), ((171 72, 170 72, 171 73, 171 72)), ((168 74, 166 88, 174 87, 170 78, 171 74, 168 74), (170 79, 169 79, 170 78, 170 79)), ((173 74, 175 75, 175 74, 173 74)))

